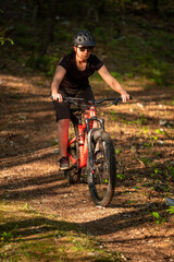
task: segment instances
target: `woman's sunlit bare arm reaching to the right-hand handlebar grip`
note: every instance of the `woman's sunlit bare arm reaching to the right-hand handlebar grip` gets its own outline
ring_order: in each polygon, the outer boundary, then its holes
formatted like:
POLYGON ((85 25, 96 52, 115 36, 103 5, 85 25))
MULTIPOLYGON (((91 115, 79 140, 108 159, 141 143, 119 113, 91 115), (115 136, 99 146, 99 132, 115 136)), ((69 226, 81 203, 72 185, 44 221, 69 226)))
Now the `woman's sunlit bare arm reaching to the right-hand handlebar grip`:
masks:
POLYGON ((129 95, 127 92, 122 87, 122 85, 110 74, 105 66, 102 66, 98 73, 101 75, 101 78, 105 81, 105 83, 112 87, 114 91, 119 92, 122 96, 123 102, 126 102, 129 99, 129 95))

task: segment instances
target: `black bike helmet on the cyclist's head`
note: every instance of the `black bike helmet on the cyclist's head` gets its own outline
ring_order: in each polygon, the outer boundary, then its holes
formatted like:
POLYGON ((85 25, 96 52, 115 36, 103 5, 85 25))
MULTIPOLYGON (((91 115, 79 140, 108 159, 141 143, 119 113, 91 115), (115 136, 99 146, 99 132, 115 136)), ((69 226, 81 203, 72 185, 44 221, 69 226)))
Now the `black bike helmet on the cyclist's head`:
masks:
POLYGON ((74 46, 96 46, 94 36, 88 31, 79 31, 74 37, 74 46))

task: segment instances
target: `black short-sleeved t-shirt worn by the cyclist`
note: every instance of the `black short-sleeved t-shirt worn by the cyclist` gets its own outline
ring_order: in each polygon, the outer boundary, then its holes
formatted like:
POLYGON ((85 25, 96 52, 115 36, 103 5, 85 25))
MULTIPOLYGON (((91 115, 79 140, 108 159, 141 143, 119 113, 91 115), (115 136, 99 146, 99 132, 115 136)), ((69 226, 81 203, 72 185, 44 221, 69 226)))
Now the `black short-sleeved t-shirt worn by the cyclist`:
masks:
POLYGON ((98 71, 103 66, 103 62, 90 53, 85 71, 79 71, 75 61, 75 52, 73 51, 64 56, 59 62, 59 66, 66 70, 66 74, 60 84, 60 90, 64 90, 69 94, 76 94, 79 90, 89 86, 88 78, 94 74, 95 71, 98 71))

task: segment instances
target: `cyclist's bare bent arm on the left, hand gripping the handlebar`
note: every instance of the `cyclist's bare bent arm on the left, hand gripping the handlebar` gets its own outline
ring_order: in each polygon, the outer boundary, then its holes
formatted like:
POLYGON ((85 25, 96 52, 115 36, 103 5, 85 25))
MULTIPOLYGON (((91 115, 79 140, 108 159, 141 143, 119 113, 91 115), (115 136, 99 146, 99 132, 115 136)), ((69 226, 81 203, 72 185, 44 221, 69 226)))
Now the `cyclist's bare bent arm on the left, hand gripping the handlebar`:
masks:
POLYGON ((52 84, 51 84, 51 93, 52 93, 53 100, 59 99, 59 102, 62 102, 62 96, 61 94, 59 94, 59 86, 65 73, 66 73, 66 70, 63 67, 58 66, 53 76, 52 84))

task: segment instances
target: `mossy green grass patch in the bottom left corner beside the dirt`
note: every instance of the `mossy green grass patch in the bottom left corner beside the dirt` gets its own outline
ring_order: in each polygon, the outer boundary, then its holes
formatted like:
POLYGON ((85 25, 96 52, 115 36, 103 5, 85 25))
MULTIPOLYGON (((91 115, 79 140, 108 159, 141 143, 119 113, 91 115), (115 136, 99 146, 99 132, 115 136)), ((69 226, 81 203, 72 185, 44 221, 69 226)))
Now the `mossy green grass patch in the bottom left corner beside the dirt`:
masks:
POLYGON ((78 225, 37 213, 25 203, 0 202, 1 261, 121 261, 78 225))

